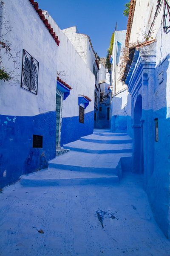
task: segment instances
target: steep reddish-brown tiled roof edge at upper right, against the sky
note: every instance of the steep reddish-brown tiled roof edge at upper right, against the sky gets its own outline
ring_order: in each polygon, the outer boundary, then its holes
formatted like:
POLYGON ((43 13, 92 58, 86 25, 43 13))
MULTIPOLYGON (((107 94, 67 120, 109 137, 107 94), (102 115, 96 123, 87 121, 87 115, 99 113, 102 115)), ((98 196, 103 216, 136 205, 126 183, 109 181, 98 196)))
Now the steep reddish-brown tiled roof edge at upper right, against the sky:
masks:
POLYGON ((126 41, 125 41, 126 47, 129 46, 130 33, 131 33, 131 29, 132 29, 135 6, 136 6, 136 0, 130 0, 130 10, 129 10, 129 16, 128 16, 128 21, 127 21, 127 31, 126 31, 126 41))

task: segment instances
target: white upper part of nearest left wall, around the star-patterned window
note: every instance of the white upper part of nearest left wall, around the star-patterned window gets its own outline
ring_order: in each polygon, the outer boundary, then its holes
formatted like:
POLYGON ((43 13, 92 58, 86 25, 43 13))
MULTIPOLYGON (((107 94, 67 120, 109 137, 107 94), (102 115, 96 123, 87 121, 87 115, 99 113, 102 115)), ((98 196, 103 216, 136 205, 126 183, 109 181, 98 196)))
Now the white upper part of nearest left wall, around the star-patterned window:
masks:
MULTIPOLYGON (((34 116, 55 110, 57 76, 57 44, 28 0, 3 0, 5 19, 12 26, 6 40, 12 43, 11 52, 20 51, 17 77, 19 83, 0 81, 0 114, 34 116), (20 88, 23 49, 39 61, 38 95, 20 88)), ((5 31, 5 29, 3 29, 5 31)), ((4 66, 13 69, 3 54, 4 66)))

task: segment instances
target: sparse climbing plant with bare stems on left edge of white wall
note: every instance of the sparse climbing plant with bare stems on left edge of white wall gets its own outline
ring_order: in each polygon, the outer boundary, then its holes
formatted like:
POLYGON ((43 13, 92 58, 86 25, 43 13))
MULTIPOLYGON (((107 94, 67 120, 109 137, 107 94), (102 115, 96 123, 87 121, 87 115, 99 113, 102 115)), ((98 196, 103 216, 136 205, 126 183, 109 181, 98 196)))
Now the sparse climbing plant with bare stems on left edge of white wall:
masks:
POLYGON ((12 44, 6 40, 6 35, 11 32, 12 27, 9 25, 4 17, 4 3, 0 1, 0 80, 19 82, 17 80, 18 74, 15 74, 17 70, 17 58, 19 57, 20 52, 12 51, 12 44), (8 61, 13 63, 12 70, 8 70, 7 67, 3 64, 2 55, 5 55, 8 61))

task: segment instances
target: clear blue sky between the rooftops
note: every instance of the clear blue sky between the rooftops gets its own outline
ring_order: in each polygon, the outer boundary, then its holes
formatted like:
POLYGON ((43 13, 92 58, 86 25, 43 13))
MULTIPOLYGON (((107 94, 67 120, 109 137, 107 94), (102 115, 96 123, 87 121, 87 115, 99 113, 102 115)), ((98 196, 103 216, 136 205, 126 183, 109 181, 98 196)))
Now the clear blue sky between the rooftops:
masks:
POLYGON ((37 0, 61 29, 77 26, 80 33, 89 35, 99 57, 105 57, 112 32, 126 29, 123 16, 128 0, 37 0))

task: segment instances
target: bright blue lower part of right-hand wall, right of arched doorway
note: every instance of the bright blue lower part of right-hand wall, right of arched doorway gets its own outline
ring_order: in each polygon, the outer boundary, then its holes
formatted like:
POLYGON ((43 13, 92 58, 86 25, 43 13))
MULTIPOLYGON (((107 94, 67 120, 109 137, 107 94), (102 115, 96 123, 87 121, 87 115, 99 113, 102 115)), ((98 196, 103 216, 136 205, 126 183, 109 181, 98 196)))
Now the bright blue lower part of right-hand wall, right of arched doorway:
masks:
POLYGON ((154 217, 168 237, 170 228, 170 118, 167 108, 142 111, 144 117, 144 187, 154 217), (155 141, 155 118, 159 122, 159 141, 155 141))

